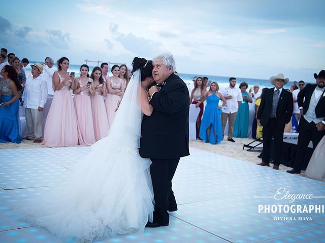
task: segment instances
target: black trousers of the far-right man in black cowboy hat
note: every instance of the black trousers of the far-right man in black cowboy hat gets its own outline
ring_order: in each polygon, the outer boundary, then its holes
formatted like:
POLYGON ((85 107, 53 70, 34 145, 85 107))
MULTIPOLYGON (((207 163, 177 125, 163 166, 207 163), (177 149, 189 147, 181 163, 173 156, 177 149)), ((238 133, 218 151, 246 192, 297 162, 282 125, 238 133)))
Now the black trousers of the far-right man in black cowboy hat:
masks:
POLYGON ((307 166, 305 165, 304 157, 310 140, 313 142, 313 149, 315 149, 324 135, 325 130, 317 131, 316 124, 313 121, 308 123, 304 116, 300 118, 296 161, 294 165, 296 171, 301 171, 302 168, 307 166))

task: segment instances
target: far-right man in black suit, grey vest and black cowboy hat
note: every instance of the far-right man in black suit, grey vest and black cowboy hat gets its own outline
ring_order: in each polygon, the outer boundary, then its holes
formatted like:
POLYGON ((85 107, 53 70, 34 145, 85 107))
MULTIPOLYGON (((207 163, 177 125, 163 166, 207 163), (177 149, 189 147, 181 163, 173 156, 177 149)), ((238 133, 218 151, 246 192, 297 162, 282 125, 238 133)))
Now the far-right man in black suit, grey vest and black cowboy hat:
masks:
POLYGON ((298 94, 298 106, 301 113, 296 161, 290 174, 300 174, 304 166, 305 152, 309 141, 313 149, 325 135, 325 70, 314 73, 316 84, 308 84, 298 94))

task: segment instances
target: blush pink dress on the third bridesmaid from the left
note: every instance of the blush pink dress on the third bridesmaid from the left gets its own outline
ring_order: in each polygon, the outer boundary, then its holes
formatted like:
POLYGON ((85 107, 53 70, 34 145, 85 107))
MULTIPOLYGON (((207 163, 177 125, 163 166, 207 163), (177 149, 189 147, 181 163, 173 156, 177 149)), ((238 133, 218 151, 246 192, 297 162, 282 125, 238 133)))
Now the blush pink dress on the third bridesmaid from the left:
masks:
POLYGON ((96 86, 95 95, 90 96, 92 120, 96 141, 107 137, 109 130, 104 97, 102 96, 102 92, 99 90, 99 88, 99 86, 96 86))

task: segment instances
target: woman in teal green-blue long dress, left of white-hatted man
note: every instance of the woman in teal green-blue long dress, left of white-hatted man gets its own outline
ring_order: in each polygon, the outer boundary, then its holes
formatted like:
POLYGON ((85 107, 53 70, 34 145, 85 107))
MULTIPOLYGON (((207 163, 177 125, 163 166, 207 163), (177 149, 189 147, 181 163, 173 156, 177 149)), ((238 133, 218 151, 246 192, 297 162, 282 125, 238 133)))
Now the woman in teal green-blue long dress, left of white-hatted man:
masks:
POLYGON ((239 106, 235 125, 234 125, 234 137, 235 138, 247 138, 248 123, 249 123, 249 106, 248 102, 252 103, 252 97, 246 92, 248 84, 243 82, 239 85, 242 92, 243 100, 239 106))

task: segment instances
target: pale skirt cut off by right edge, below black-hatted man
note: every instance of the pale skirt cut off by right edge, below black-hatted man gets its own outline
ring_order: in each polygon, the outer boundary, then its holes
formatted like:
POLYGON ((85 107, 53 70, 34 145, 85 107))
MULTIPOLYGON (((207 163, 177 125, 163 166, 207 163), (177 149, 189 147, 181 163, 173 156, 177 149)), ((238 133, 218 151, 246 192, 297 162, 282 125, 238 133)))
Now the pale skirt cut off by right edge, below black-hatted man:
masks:
POLYGON ((325 136, 317 144, 305 174, 312 179, 325 181, 325 136))

